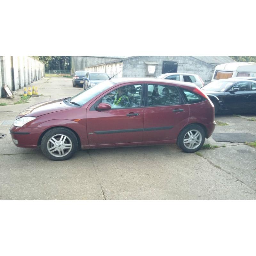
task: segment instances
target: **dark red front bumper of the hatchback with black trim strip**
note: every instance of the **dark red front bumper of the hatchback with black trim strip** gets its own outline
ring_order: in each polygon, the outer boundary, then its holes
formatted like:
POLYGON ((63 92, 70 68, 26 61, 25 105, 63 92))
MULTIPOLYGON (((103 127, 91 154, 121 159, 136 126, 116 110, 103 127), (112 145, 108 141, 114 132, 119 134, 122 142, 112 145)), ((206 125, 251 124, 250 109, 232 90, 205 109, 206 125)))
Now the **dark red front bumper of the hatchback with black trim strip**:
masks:
POLYGON ((10 134, 15 146, 20 148, 36 148, 38 140, 44 130, 38 128, 24 128, 16 127, 14 125, 10 128, 10 134))

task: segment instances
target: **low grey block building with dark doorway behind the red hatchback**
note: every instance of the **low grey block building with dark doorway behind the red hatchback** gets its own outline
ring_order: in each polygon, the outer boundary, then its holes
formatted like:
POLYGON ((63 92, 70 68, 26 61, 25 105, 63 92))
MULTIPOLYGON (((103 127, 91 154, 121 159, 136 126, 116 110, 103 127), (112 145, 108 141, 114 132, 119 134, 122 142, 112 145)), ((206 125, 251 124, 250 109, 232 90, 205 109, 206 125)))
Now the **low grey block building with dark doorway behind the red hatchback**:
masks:
POLYGON ((208 84, 218 64, 235 62, 228 56, 132 56, 85 67, 106 72, 110 77, 155 77, 163 73, 191 73, 208 84))

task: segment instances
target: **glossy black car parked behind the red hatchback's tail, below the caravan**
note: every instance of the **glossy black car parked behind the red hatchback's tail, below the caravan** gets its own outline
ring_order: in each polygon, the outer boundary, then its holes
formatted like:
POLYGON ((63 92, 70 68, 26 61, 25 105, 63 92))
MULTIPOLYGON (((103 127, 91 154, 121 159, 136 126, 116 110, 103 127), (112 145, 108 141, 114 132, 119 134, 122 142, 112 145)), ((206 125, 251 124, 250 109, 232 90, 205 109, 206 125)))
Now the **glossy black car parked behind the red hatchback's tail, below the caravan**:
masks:
POLYGON ((220 79, 201 89, 212 100, 215 113, 256 113, 256 81, 220 79))

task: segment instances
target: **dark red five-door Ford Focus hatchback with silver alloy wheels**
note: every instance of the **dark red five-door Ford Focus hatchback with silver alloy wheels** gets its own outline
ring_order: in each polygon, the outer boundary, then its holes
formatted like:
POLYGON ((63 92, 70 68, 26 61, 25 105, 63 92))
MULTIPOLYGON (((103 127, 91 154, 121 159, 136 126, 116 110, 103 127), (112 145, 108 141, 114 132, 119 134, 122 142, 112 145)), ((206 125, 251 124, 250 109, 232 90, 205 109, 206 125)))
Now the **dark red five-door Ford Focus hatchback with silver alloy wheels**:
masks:
POLYGON ((192 83, 122 78, 34 105, 16 117, 10 133, 17 147, 41 146, 50 159, 66 160, 78 148, 177 143, 193 153, 215 124, 211 100, 192 83))

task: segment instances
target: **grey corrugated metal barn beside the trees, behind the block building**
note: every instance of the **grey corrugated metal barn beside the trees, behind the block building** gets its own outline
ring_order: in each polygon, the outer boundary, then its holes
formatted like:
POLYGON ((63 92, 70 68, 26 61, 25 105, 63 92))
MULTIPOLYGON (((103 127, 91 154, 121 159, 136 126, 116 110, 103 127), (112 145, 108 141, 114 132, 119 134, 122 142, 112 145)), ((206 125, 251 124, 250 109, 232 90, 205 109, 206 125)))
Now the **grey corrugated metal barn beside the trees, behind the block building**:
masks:
POLYGON ((84 70, 88 66, 122 58, 122 56, 71 56, 71 74, 74 75, 76 70, 84 70))

